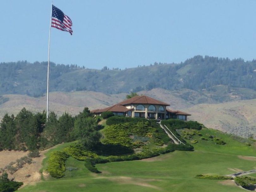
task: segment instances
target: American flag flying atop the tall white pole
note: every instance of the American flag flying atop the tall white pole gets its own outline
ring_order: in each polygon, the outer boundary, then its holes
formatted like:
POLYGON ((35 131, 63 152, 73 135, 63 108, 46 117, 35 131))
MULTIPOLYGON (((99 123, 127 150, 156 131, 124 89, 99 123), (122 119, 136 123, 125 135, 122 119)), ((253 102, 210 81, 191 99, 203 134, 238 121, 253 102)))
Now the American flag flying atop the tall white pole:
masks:
POLYGON ((60 9, 52 5, 52 27, 55 27, 62 31, 68 31, 71 35, 72 31, 72 21, 65 15, 60 9))

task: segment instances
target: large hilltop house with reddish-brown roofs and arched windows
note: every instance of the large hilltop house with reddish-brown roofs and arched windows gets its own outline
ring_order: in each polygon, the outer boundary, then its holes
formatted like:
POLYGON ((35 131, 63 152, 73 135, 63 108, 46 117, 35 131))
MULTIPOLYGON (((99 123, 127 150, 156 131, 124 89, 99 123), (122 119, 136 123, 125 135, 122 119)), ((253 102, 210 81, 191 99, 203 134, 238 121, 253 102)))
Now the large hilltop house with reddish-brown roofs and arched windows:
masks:
POLYGON ((148 96, 135 96, 126 99, 116 105, 91 111, 100 115, 102 112, 111 111, 117 116, 144 117, 149 119, 181 119, 187 120, 190 114, 182 111, 172 111, 167 108, 169 104, 153 99, 148 96))

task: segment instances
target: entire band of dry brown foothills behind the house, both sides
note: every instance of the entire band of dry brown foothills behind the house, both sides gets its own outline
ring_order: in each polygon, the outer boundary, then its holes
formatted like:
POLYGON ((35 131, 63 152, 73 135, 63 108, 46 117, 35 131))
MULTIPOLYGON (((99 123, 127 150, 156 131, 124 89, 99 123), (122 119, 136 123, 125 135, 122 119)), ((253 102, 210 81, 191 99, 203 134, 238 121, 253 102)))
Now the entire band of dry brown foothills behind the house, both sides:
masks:
MULTIPOLYGON (((241 136, 248 136, 251 133, 256 136, 256 99, 213 104, 212 100, 198 95, 196 91, 190 90, 187 94, 186 90, 179 92, 160 88, 141 91, 138 94, 145 94, 169 103, 171 109, 191 113, 190 119, 197 120, 209 128, 241 136), (186 99, 183 99, 184 97, 186 99), (199 97, 212 104, 194 105, 199 97)), ((105 94, 93 91, 51 92, 49 108, 58 116, 65 111, 76 115, 85 106, 90 110, 104 108, 124 100, 125 96, 126 93, 105 94)), ((3 97, 9 100, 0 105, 0 119, 7 112, 16 115, 23 107, 33 112, 46 109, 46 96, 34 98, 27 95, 3 95, 3 97)))

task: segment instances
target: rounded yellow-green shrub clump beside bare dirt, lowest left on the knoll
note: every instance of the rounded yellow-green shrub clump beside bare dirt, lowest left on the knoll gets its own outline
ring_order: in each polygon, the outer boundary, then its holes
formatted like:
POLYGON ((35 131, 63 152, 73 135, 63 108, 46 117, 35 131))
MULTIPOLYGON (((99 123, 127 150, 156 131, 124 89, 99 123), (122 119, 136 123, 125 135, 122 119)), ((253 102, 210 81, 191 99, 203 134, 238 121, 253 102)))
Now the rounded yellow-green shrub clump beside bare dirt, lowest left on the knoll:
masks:
POLYGON ((65 161, 68 157, 69 155, 64 151, 54 151, 50 153, 47 171, 52 177, 60 178, 64 176, 65 161))

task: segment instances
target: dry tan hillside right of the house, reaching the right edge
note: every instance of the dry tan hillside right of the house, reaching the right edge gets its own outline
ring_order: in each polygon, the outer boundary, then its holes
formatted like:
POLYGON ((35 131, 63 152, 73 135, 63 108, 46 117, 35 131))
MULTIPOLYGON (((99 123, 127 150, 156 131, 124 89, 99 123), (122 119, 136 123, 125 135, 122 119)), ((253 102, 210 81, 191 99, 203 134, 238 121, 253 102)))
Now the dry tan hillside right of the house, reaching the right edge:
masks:
POLYGON ((186 109, 205 126, 241 136, 256 136, 256 99, 200 104, 186 109))

